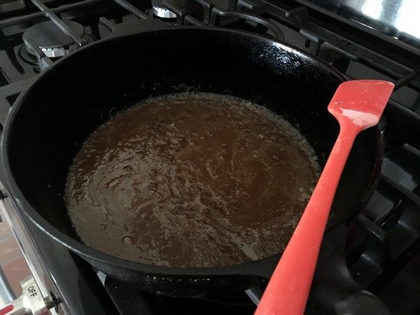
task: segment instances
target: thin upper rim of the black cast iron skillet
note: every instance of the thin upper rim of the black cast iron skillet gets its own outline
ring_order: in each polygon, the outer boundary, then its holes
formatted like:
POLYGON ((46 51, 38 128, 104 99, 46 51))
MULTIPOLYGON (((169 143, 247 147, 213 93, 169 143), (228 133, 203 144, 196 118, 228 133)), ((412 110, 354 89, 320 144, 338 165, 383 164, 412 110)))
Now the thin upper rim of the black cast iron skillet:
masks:
MULTIPOLYGON (((237 33, 241 36, 251 36, 254 38, 257 38, 260 41, 270 41, 270 42, 276 42, 280 45, 281 48, 291 49, 293 51, 297 51, 300 54, 304 55, 304 57, 307 57, 309 59, 313 59, 315 62, 323 66, 324 68, 328 69, 332 74, 335 74, 339 80, 342 80, 343 82, 346 79, 346 77, 334 69, 332 66, 324 62, 322 59, 319 59, 316 56, 309 55, 307 52, 304 52, 300 50, 299 48, 295 48, 293 45, 288 45, 286 43, 281 43, 279 41, 276 41, 272 38, 268 38, 266 36, 254 34, 248 31, 242 31, 237 29, 225 29, 221 27, 165 27, 160 28, 158 31, 183 31, 184 29, 195 29, 197 31, 216 31, 216 32, 230 32, 230 33, 237 33)), ((36 84, 43 79, 44 76, 48 76, 48 73, 51 71, 55 71, 57 67, 59 67, 60 64, 63 62, 67 62, 69 59, 71 60, 71 56, 75 54, 83 53, 84 50, 90 49, 90 47, 94 45, 101 45, 103 42, 113 41, 117 38, 128 38, 130 36, 139 36, 139 34, 147 33, 149 31, 156 31, 156 30, 147 30, 147 31, 139 31, 137 33, 133 34, 125 34, 123 36, 116 36, 116 37, 110 37, 110 38, 104 38, 99 41, 95 41, 93 43, 90 43, 88 45, 85 45, 83 48, 80 48, 79 50, 76 50, 76 52, 73 52, 70 55, 67 55, 66 57, 62 57, 62 59, 59 59, 57 62, 52 64, 47 70, 43 71, 38 78, 34 81, 34 83, 25 91, 22 92, 18 99, 16 99, 15 104, 10 109, 10 112, 8 114, 8 117, 6 119, 5 126, 3 128, 3 134, 1 138, 1 162, 3 164, 3 167, 1 167, 1 173, 4 186, 6 188, 6 192, 8 193, 8 196, 13 196, 10 198, 10 201, 15 203, 15 206, 19 209, 19 211, 23 211, 25 216, 28 216, 29 219, 43 232, 45 232, 47 235, 52 237, 52 239, 55 239, 55 241, 58 241, 60 244, 64 244, 67 248, 69 248, 71 251, 78 253, 78 255, 81 255, 84 258, 87 258, 89 260, 97 261, 99 263, 102 263, 104 265, 110 265, 117 268, 123 268, 123 269, 131 269, 136 272, 144 272, 144 273, 150 273, 150 274, 165 274, 165 275, 176 275, 176 276, 212 276, 212 275, 228 275, 228 274, 253 274, 251 270, 254 267, 257 267, 257 265, 271 265, 273 260, 277 260, 281 254, 276 254, 269 256, 267 258, 262 258, 260 260, 254 260, 251 262, 244 262, 236 265, 228 265, 223 267, 199 267, 199 268, 180 268, 180 267, 165 267, 165 266, 155 266, 155 265, 146 265, 142 264, 140 262, 133 262, 130 260, 125 260, 123 258, 117 258, 113 255, 109 255, 106 253, 103 253, 102 251, 98 251, 94 248, 91 248, 89 246, 86 246, 85 244, 81 243, 80 241, 77 241, 76 239, 73 239, 64 233, 60 232, 55 228, 53 225, 48 223, 38 212, 31 207, 31 204, 26 200, 25 196, 22 194, 20 189, 18 188, 18 184, 15 182, 15 179, 13 177, 13 174, 10 170, 10 164, 8 161, 8 134, 10 133, 10 126, 13 125, 13 120, 15 117, 15 114, 20 109, 20 106, 22 105, 22 101, 25 100, 25 97, 31 92, 31 90, 36 87, 36 84), (6 140, 6 144, 4 143, 6 140)), ((380 134, 379 127, 375 126, 375 129, 377 129, 377 134, 380 134)), ((380 139, 379 139, 380 141, 380 139)), ((381 144, 380 144, 381 145, 381 144)), ((379 153, 381 148, 376 148, 375 151, 377 151, 377 158, 381 160, 381 154, 379 153), (378 156, 379 155, 379 156, 378 156)), ((379 161, 379 165, 381 161, 379 161)), ((376 163, 375 163, 376 164, 376 163)), ((363 201, 367 196, 369 196, 373 188, 372 185, 374 183, 375 176, 377 175, 377 167, 373 168, 372 174, 370 175, 370 186, 368 186, 367 190, 365 190, 365 194, 360 199, 360 201, 363 201), (371 191, 370 191, 371 190, 371 191)), ((262 267, 262 266, 261 266, 262 267)), ((258 272, 255 272, 255 275, 258 275, 258 272)))

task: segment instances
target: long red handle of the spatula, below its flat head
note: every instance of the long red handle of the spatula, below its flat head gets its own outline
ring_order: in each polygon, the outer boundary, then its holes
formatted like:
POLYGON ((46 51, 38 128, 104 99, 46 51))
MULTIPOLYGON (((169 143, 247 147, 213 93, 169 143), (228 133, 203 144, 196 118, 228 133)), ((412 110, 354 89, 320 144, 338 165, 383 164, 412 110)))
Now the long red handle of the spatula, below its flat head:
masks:
POLYGON ((354 125, 342 124, 311 200, 274 270, 255 315, 304 313, 332 200, 358 132, 360 130, 354 125))

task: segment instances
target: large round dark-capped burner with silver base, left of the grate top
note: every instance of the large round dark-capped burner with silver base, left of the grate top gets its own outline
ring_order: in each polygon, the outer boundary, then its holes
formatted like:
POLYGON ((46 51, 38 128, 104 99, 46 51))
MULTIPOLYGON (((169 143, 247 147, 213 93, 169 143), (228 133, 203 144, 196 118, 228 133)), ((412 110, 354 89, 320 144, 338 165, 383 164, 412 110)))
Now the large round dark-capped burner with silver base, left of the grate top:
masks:
MULTIPOLYGON (((65 23, 78 36, 83 37, 85 34, 85 29, 78 22, 65 21, 65 23)), ((78 48, 73 39, 64 34, 52 21, 41 22, 29 27, 23 33, 22 39, 25 43, 28 39, 34 41, 47 57, 62 57, 78 48)), ((25 45, 25 48, 31 55, 35 55, 27 45, 25 45)))

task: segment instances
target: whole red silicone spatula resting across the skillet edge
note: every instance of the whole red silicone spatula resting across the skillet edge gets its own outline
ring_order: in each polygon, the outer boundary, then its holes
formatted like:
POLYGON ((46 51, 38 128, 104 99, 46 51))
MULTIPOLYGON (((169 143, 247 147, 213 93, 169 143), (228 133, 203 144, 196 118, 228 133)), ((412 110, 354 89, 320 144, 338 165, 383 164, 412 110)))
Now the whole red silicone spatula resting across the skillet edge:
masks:
POLYGON ((393 86, 381 80, 353 80, 337 88, 328 105, 339 122, 337 141, 255 315, 303 314, 332 200, 351 146, 359 132, 379 122, 393 86))

